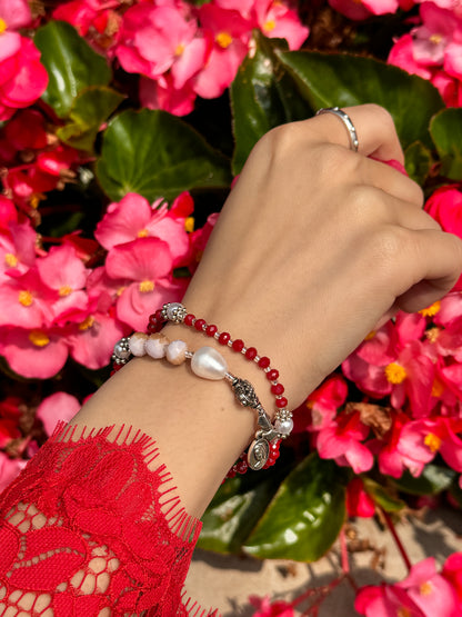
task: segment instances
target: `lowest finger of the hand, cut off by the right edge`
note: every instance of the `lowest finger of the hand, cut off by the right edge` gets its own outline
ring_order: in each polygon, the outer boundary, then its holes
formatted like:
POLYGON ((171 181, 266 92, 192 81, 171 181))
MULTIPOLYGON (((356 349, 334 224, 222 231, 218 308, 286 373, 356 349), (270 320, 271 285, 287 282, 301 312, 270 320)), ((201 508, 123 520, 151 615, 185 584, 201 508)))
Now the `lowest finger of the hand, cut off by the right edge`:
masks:
POLYGON ((398 298, 396 305, 415 312, 448 293, 462 271, 462 240, 452 233, 423 229, 412 231, 415 256, 411 275, 415 281, 398 298))

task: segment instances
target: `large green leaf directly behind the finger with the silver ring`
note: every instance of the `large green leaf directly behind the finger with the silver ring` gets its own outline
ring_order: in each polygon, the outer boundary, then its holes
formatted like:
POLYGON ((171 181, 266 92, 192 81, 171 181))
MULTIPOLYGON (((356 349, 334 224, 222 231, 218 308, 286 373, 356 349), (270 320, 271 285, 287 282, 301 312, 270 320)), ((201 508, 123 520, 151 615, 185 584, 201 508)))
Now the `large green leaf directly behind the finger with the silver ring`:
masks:
POLYGON ((278 54, 314 109, 378 103, 392 115, 404 148, 418 140, 431 146, 430 119, 444 103, 428 80, 373 58, 314 51, 278 54))

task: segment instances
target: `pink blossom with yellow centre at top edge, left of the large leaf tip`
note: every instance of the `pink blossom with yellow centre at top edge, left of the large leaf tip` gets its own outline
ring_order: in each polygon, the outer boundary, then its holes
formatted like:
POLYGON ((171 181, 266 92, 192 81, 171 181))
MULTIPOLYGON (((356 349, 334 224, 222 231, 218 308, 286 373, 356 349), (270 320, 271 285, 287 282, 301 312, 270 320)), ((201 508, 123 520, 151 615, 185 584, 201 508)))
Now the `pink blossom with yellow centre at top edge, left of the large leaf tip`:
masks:
POLYGON ((205 32, 210 32, 213 47, 193 89, 200 97, 213 99, 231 84, 245 58, 252 24, 238 11, 211 3, 200 7, 199 18, 205 32))

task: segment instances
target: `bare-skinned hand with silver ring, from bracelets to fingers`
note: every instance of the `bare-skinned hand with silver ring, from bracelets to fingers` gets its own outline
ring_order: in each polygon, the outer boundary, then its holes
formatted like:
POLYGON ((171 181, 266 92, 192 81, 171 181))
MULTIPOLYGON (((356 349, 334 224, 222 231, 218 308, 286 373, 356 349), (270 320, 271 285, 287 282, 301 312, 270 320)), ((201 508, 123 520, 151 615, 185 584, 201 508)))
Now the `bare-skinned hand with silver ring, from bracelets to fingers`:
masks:
POLYGON ((184 298, 270 356, 292 407, 383 316, 431 305, 462 269, 462 242, 422 211, 418 185, 370 158, 403 162, 390 115, 345 111, 358 153, 331 113, 259 141, 184 298))

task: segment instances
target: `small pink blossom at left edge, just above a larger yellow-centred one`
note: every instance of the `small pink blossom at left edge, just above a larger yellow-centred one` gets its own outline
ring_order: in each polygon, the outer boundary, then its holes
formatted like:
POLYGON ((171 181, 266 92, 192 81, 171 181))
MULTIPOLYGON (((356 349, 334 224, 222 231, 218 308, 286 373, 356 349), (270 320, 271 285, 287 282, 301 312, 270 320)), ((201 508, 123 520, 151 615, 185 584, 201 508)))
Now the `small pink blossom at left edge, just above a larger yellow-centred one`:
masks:
POLYGON ((8 231, 0 235, 0 281, 26 273, 36 262, 37 232, 30 223, 10 223, 8 231))

